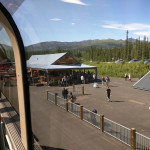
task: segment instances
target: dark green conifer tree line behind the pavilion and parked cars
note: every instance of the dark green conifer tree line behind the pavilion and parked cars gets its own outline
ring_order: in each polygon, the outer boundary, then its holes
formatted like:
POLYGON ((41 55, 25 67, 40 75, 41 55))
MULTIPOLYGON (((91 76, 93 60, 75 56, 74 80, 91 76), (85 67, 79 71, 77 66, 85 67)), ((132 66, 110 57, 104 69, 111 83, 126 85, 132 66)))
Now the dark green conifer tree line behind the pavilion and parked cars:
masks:
POLYGON ((125 43, 120 44, 120 47, 113 48, 97 48, 96 46, 91 46, 84 50, 65 50, 58 48, 55 51, 43 50, 40 52, 26 52, 26 59, 29 59, 32 55, 39 54, 50 54, 50 53, 62 53, 68 52, 71 56, 79 61, 97 61, 97 62, 111 62, 117 59, 123 59, 129 61, 131 59, 139 59, 144 61, 150 58, 150 42, 148 38, 144 36, 143 40, 140 38, 136 39, 133 43, 132 40, 128 38, 128 31, 126 32, 125 43))

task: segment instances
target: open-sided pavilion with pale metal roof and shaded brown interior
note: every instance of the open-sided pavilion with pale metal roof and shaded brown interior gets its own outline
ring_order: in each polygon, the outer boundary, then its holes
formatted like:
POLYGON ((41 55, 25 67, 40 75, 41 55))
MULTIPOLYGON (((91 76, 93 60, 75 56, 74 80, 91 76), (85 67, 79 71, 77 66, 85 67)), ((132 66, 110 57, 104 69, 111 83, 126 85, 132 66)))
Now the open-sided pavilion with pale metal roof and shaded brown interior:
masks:
POLYGON ((27 61, 27 68, 28 76, 34 83, 61 85, 64 77, 68 84, 72 84, 80 82, 81 76, 88 83, 93 80, 93 74, 97 78, 97 67, 81 64, 68 53, 32 55, 27 61), (95 73, 90 72, 90 69, 94 69, 95 73))

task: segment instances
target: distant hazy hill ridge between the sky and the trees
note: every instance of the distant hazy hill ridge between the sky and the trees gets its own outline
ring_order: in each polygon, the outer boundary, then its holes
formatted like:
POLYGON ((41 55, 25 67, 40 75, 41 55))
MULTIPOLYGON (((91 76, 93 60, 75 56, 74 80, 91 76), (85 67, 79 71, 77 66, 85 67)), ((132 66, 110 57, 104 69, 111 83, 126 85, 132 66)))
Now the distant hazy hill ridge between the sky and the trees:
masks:
MULTIPOLYGON (((134 43, 134 39, 132 42, 134 43)), ((66 50, 84 50, 90 48, 91 46, 95 46, 97 48, 113 48, 120 47, 120 44, 125 44, 124 40, 114 40, 114 39, 106 39, 106 40, 85 40, 80 42, 41 42, 37 44, 33 44, 27 46, 26 51, 42 51, 42 50, 57 50, 58 48, 66 49, 66 50)))

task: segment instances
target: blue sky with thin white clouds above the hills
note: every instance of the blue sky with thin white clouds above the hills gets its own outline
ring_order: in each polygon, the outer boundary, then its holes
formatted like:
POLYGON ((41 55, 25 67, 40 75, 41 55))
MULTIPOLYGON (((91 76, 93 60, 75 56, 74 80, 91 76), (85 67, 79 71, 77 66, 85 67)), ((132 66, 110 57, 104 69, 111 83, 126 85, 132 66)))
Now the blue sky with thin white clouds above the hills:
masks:
POLYGON ((149 0, 25 0, 13 15, 25 45, 150 38, 149 0))

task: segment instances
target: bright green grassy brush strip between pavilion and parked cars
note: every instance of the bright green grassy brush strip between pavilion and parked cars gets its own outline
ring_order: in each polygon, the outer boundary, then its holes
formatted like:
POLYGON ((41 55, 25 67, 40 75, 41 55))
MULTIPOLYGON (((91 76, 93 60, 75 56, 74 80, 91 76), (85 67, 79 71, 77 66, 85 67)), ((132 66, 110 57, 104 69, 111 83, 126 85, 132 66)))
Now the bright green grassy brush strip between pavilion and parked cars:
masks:
POLYGON ((105 63, 105 62, 83 62, 84 64, 96 66, 98 76, 110 76, 123 78, 125 73, 130 73, 132 78, 138 78, 150 71, 150 64, 143 63, 105 63))

